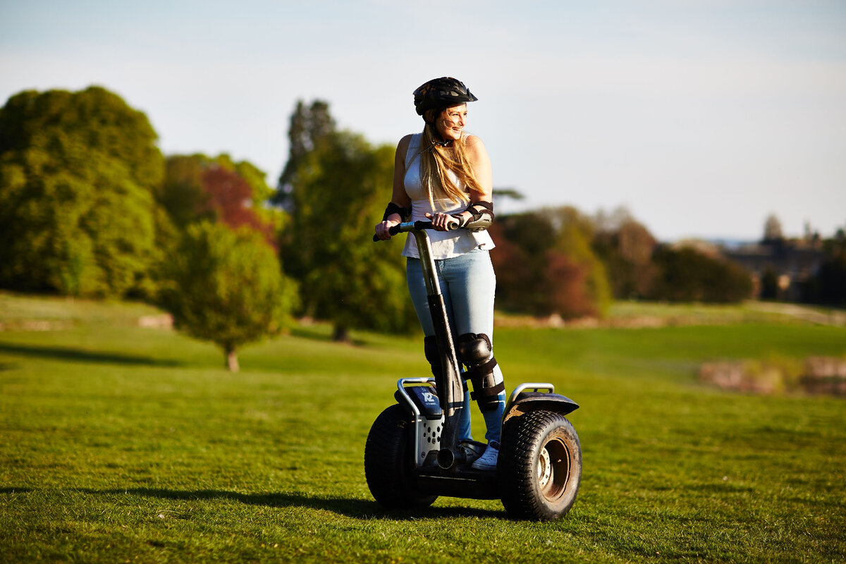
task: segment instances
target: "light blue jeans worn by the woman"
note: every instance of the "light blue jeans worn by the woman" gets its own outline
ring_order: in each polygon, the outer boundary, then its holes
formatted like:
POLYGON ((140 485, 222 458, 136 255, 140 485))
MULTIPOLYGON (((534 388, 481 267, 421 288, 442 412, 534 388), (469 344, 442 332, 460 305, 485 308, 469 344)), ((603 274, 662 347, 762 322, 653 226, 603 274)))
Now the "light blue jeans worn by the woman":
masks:
MULTIPOLYGON (((441 284, 443 303, 447 308, 449 329, 453 340, 464 333, 485 333, 493 346, 493 294, 497 277, 493 273, 488 251, 474 249, 451 259, 435 260, 437 278, 441 284)), ((426 337, 435 334, 426 295, 426 281, 419 259, 409 258, 405 266, 411 301, 426 337)), ((493 369, 497 384, 503 381, 499 365, 493 369)), ((505 392, 499 393, 497 408, 482 413, 485 419, 485 438, 499 441, 505 410, 505 392)), ((464 409, 459 419, 459 440, 472 440, 470 434, 470 393, 464 392, 464 409)))

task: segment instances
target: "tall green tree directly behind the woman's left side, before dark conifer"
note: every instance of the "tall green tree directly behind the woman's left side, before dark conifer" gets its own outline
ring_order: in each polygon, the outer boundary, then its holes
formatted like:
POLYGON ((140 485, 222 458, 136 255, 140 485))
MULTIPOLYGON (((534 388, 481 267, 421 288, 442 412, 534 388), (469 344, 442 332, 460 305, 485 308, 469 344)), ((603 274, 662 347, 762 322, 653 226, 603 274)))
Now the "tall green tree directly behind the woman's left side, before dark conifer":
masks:
POLYGON ((333 131, 302 156, 292 178, 283 256, 305 314, 332 320, 339 341, 356 327, 409 331, 416 318, 400 249, 372 241, 390 200, 393 147, 333 131))

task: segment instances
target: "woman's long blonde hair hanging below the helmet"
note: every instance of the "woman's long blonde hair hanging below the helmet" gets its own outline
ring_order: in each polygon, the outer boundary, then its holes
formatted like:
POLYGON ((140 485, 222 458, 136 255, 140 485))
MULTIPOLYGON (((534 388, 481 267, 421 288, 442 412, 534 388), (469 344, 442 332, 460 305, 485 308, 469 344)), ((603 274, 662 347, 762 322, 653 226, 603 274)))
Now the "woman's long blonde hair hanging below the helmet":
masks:
POLYGON ((480 194, 485 192, 475 178, 473 167, 467 156, 467 145, 465 145, 467 136, 462 135, 460 140, 455 140, 448 146, 440 144, 440 135, 437 134, 434 123, 436 119, 442 117, 445 109, 426 112, 424 116, 426 126, 423 128, 423 137, 418 148, 420 182, 426 190, 432 209, 435 209, 435 200, 447 198, 456 203, 469 203, 470 193, 467 190, 480 194), (448 171, 452 171, 467 189, 462 189, 454 183, 448 171))

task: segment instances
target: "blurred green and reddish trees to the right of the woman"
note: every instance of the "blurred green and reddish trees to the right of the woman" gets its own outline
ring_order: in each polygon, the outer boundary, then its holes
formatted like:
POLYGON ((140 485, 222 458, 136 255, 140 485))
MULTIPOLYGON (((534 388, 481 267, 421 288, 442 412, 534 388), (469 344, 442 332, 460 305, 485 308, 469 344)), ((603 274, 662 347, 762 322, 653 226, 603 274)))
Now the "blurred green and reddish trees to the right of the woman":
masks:
POLYGON ((613 299, 735 303, 749 272, 719 255, 659 244, 628 211, 585 216, 572 207, 497 218, 497 304, 563 319, 602 316, 613 299))

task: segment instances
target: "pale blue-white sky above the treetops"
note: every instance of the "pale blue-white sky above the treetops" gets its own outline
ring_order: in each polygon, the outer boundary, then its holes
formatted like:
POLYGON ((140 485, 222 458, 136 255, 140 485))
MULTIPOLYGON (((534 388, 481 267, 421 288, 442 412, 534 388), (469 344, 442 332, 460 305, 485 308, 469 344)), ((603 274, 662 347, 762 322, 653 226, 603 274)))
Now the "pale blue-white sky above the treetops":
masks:
MULTIPOLYGON (((166 155, 275 185, 298 100, 396 145, 453 76, 497 213, 620 206, 663 241, 846 227, 844 0, 0 0, 0 103, 101 85, 166 155)), ((385 200, 390 194, 385 194, 385 200)))

